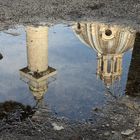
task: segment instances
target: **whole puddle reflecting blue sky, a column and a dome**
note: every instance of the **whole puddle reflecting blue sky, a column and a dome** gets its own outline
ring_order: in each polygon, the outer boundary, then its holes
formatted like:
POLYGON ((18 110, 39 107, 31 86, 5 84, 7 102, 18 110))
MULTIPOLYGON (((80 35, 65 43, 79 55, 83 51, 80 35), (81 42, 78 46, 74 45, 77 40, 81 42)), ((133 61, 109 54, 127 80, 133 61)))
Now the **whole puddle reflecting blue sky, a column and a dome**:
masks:
POLYGON ((0 102, 46 105, 57 116, 87 119, 125 95, 134 40, 129 27, 97 23, 2 31, 0 102))

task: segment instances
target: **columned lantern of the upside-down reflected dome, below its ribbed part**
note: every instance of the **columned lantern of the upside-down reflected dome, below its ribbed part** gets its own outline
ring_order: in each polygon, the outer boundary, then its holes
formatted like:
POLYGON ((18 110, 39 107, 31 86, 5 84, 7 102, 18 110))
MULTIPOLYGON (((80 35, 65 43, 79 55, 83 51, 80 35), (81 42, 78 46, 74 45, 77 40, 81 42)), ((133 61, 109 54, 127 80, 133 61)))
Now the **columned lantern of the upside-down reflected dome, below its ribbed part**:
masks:
POLYGON ((122 54, 101 55, 97 58, 97 76, 108 87, 114 81, 120 80, 122 74, 122 54))

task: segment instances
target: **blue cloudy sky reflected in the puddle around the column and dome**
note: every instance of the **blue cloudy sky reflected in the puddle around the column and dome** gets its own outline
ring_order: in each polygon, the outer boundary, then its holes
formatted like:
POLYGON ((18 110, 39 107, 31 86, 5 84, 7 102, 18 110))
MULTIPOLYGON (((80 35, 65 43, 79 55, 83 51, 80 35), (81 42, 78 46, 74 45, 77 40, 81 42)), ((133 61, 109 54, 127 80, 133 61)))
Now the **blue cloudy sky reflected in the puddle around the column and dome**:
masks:
MULTIPOLYGON (((86 119, 93 108, 105 105, 112 96, 125 94, 132 50, 123 56, 121 80, 107 89, 96 75, 97 53, 83 44, 71 27, 50 27, 48 44, 49 65, 57 75, 50 78, 43 102, 58 116, 86 119)), ((35 106, 36 100, 19 74, 27 66, 24 26, 0 32, 0 52, 0 102, 12 100, 35 106)))

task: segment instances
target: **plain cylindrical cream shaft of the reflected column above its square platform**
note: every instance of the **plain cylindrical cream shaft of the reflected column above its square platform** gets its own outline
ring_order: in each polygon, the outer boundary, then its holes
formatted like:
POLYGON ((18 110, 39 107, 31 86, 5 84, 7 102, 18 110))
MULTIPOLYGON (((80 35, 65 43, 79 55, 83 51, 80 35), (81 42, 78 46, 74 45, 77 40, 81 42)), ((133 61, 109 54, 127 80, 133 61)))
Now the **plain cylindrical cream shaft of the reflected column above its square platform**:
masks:
POLYGON ((26 28, 27 62, 32 72, 48 69, 48 27, 28 26, 26 28))

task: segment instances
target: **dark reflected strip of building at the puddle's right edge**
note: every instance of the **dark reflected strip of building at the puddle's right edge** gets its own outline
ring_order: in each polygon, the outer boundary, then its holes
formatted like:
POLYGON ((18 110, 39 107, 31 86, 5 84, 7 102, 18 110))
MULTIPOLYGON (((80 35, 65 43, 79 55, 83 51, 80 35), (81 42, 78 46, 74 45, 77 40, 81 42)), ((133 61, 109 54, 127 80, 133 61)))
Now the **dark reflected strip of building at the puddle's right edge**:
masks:
POLYGON ((136 34, 126 85, 126 94, 140 95, 140 33, 136 34))

